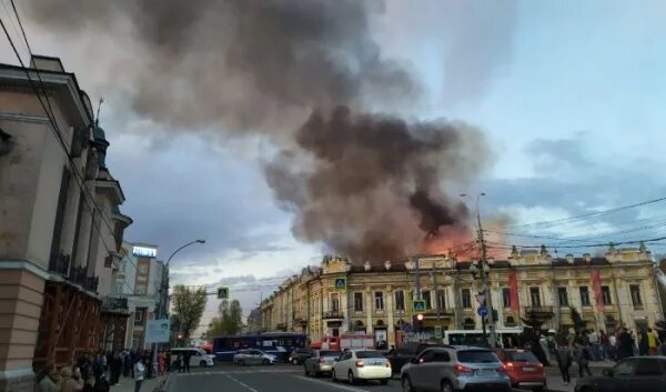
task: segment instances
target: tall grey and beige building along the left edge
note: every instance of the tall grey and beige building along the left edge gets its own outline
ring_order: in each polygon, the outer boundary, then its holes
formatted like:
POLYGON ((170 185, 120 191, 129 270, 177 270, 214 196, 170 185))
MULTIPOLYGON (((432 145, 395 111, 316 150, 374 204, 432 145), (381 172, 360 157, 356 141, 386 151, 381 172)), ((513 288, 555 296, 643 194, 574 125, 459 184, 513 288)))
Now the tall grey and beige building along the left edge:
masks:
POLYGON ((111 275, 132 220, 91 101, 59 59, 0 64, 0 391, 32 391, 44 363, 124 334, 111 275))

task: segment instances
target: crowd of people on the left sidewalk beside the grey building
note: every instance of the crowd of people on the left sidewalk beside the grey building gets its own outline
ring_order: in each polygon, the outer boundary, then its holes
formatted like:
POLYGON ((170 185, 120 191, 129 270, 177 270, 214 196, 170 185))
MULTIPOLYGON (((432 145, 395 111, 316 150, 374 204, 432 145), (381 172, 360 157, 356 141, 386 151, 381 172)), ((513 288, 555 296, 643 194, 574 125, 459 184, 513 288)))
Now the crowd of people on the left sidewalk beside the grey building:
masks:
MULTIPOLYGON (((83 354, 71 366, 57 368, 47 364, 36 376, 36 392, 109 392, 120 383, 121 376, 133 380, 134 391, 140 392, 144 380, 170 371, 170 350, 158 353, 157 366, 153 353, 148 350, 122 350, 119 352, 83 354)), ((174 362, 178 371, 189 372, 189 359, 179 355, 174 362), (186 365, 185 365, 186 363, 186 365)))

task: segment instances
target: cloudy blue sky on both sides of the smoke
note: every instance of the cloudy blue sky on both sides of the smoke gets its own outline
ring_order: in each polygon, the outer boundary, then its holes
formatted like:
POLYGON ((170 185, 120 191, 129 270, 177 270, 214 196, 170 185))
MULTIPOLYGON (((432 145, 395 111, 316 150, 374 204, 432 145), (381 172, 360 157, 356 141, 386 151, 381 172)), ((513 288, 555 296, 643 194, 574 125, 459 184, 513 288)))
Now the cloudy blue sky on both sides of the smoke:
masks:
MULTIPOLYGON (((664 2, 467 3, 389 1, 371 20, 383 53, 413 70, 427 92, 404 114, 474 124, 491 144, 490 157, 480 157, 490 162, 485 171, 466 189, 447 191, 485 192, 484 219, 503 214, 515 225, 666 195, 664 2)), ((262 175, 270 143, 214 129, 167 132, 128 103, 131 81, 123 70, 142 56, 132 42, 99 30, 65 36, 29 16, 23 22, 33 52, 60 57, 93 101, 105 100, 100 122, 111 143, 108 165, 127 195, 122 211, 134 220, 125 239, 159 245, 164 259, 182 243, 206 240, 179 253, 172 282, 229 284, 248 314, 284 278, 321 261, 325 250, 294 239, 293 214, 278 205, 262 175)), ((18 62, 7 41, 0 61, 18 62)), ((502 242, 656 238, 666 233, 664 205, 503 228, 518 235, 502 242)), ((666 250, 660 243, 652 249, 666 250)), ((206 320, 214 309, 210 301, 206 320)))

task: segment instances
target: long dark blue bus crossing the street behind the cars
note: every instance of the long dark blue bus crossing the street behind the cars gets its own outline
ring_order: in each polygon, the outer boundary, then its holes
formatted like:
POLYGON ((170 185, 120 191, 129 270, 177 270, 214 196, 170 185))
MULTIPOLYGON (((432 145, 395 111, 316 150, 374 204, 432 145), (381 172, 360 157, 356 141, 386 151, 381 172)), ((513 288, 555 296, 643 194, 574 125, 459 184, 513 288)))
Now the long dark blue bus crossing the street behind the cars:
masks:
POLYGON ((260 334, 218 336, 213 339, 213 354, 218 362, 231 362, 240 350, 256 349, 286 362, 292 351, 304 348, 307 335, 294 332, 264 332, 260 334))

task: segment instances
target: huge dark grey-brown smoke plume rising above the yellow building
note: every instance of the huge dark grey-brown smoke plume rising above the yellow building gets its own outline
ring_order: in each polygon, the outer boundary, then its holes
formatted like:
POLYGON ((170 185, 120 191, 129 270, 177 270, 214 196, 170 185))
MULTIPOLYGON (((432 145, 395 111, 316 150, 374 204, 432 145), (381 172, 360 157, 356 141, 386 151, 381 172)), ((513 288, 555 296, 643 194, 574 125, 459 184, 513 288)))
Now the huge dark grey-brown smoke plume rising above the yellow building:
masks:
POLYGON ((65 33, 131 34, 133 109, 171 128, 266 133, 265 173, 293 232, 355 261, 466 238, 443 189, 484 165, 481 132, 391 114, 420 86, 370 32, 381 1, 37 1, 30 18, 65 33), (130 26, 120 31, 118 26, 130 26), (377 114, 385 112, 389 114, 377 114))

